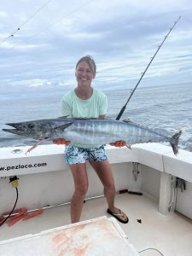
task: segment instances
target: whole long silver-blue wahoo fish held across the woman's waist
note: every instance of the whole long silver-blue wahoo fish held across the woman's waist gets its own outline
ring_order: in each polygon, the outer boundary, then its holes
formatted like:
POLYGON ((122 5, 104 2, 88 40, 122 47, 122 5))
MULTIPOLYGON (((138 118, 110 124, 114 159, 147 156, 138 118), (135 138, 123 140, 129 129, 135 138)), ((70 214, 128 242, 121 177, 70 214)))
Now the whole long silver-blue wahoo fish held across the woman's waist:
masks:
POLYGON ((36 148, 44 140, 52 141, 57 138, 64 138, 72 143, 96 146, 122 140, 127 143, 129 148, 136 143, 168 142, 172 146, 173 153, 177 154, 178 139, 182 134, 182 130, 179 130, 172 137, 168 137, 165 132, 165 134, 162 134, 131 121, 113 119, 61 117, 6 125, 10 125, 15 129, 3 129, 3 131, 38 140, 38 143, 27 152, 36 148))

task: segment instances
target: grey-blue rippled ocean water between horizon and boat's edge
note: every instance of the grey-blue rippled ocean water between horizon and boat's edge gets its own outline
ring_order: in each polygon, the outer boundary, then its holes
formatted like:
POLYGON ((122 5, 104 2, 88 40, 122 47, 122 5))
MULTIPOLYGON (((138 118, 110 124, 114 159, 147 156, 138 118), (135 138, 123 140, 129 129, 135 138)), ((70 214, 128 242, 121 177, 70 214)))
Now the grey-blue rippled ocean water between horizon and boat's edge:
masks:
MULTIPOLYGON (((0 97, 0 147, 32 145, 34 141, 2 131, 5 125, 30 119, 56 118, 61 116, 61 96, 67 87, 1 87, 0 97)), ((100 88, 101 90, 101 88, 100 88)), ((115 119, 130 96, 130 89, 105 88, 108 96, 108 118, 115 119)), ((131 97, 121 119, 166 132, 172 136, 184 128, 179 148, 192 152, 192 84, 140 86, 131 97)))

